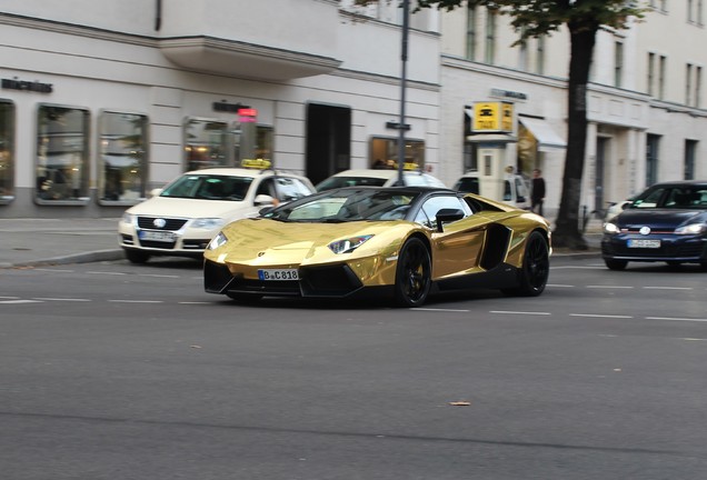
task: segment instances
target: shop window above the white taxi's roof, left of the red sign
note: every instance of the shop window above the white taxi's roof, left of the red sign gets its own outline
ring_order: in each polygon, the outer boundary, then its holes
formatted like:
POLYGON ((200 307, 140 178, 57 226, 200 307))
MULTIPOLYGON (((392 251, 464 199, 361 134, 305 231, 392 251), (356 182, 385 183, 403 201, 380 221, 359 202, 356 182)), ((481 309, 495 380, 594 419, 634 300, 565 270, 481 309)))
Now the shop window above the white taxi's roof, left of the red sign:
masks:
POLYGON ((230 167, 228 124, 217 120, 189 119, 185 127, 187 171, 209 167, 230 167))

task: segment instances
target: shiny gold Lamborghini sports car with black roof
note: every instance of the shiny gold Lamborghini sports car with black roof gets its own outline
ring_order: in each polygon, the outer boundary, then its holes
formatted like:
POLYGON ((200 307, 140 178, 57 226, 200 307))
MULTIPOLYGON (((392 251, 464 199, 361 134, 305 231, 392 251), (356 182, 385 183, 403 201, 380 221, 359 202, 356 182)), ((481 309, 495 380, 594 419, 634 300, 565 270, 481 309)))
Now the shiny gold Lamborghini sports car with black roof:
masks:
POLYGON ((535 213, 429 187, 346 187, 226 226, 205 252, 210 293, 379 297, 419 307, 445 290, 539 296, 550 226, 535 213))

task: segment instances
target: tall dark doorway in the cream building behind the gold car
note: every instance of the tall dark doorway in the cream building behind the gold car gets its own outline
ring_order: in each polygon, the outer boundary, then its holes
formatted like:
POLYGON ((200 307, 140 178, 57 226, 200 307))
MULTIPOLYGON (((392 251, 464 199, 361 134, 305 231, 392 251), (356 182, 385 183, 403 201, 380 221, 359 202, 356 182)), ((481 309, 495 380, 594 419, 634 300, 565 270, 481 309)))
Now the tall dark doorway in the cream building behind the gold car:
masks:
POLYGON ((307 171, 317 184, 351 166, 351 109, 307 106, 307 171))

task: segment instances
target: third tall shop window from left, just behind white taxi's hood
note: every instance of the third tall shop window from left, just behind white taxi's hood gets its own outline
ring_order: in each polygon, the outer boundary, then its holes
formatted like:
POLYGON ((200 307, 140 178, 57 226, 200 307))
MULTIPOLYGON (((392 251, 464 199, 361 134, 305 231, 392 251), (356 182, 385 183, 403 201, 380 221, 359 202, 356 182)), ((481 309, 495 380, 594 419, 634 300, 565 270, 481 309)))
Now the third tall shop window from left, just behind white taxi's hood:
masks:
POLYGON ((140 201, 147 189, 147 117, 106 111, 99 136, 100 202, 140 201))

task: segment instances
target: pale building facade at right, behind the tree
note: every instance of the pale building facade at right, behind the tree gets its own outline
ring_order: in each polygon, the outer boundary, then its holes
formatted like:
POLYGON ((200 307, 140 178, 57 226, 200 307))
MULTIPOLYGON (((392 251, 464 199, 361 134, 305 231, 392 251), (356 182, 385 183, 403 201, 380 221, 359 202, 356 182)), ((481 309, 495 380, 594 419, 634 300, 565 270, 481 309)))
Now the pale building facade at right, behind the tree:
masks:
MULTIPOLYGON (((567 136, 569 36, 530 39, 481 8, 441 17, 441 143, 445 177, 541 169, 545 214, 559 208, 567 136), (510 104, 509 131, 469 127, 475 104, 510 104), (450 169, 452 171, 450 171, 450 169)), ((707 177, 701 0, 651 1, 640 22, 603 29, 588 86, 581 208, 601 212, 657 181, 707 177)), ((584 212, 579 212, 581 216, 584 212)))

